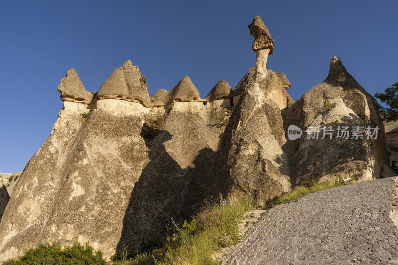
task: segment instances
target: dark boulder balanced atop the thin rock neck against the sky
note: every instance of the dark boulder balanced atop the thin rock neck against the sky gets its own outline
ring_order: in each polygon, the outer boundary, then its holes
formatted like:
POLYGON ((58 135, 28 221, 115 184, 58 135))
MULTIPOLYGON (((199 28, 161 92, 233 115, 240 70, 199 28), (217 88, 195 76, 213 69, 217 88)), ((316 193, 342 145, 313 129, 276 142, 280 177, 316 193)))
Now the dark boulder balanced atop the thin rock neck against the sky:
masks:
POLYGON ((274 40, 271 38, 270 31, 264 25, 263 20, 258 15, 254 17, 252 23, 247 26, 250 29, 250 34, 254 36, 252 48, 254 52, 261 49, 270 49, 269 54, 274 52, 274 40))

